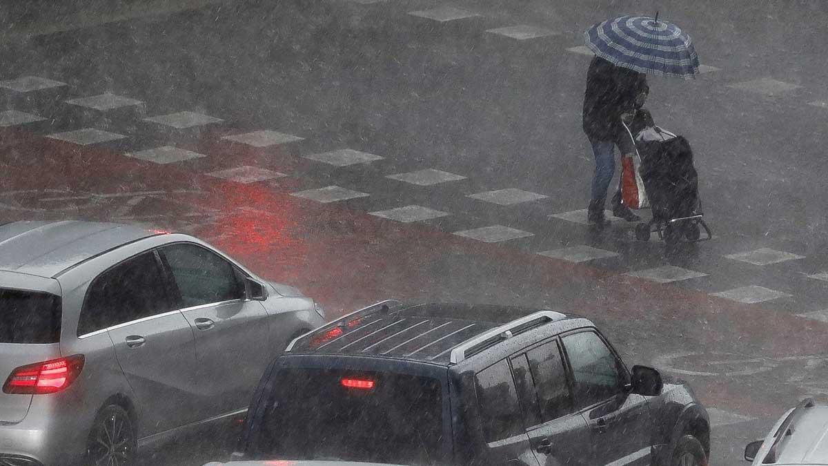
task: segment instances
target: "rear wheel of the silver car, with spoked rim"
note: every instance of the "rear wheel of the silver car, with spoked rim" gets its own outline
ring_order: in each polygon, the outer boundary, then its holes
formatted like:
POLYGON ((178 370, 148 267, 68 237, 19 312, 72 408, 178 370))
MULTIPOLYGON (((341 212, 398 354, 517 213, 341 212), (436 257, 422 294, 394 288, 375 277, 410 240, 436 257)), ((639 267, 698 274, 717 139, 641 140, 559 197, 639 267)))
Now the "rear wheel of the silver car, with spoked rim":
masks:
POLYGON ((136 459, 135 426, 129 413, 118 405, 104 406, 89 431, 84 464, 133 466, 136 459))

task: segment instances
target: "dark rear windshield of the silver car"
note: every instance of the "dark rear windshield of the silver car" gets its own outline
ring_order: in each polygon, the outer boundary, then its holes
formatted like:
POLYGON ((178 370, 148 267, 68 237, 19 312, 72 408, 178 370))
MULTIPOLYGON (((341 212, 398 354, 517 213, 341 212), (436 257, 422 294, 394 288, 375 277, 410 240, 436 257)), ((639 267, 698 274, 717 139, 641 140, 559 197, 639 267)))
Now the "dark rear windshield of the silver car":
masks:
POLYGON ((60 341, 60 298, 0 288, 0 343, 60 341))

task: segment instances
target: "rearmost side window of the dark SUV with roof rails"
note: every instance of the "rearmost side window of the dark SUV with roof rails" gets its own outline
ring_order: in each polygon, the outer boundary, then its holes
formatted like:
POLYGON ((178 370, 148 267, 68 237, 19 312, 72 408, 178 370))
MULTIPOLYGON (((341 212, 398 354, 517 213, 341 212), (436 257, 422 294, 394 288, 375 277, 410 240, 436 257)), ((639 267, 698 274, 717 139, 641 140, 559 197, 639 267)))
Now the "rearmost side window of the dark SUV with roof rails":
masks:
POLYGON ((520 403, 508 361, 504 359, 479 371, 474 381, 486 441, 522 434, 520 403))

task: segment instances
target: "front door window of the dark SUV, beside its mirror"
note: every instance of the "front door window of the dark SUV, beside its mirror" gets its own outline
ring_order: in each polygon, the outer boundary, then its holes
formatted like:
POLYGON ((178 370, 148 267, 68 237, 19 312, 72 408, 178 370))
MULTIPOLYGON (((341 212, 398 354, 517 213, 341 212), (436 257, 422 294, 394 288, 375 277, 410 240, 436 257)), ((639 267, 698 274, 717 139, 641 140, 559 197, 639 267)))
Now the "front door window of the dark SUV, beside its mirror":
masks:
POLYGON ((626 377, 621 363, 597 333, 573 333, 563 337, 563 342, 579 408, 609 400, 622 391, 626 377))

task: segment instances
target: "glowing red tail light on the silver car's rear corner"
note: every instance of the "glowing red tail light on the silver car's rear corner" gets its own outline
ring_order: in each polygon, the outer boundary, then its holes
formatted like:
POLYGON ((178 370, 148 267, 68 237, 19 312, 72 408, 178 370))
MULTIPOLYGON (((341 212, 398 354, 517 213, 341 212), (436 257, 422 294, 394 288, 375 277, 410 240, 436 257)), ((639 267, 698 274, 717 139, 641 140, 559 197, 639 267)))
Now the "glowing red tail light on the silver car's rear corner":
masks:
POLYGON ((70 386, 83 368, 82 354, 20 366, 8 376, 2 391, 12 395, 55 393, 70 386))

